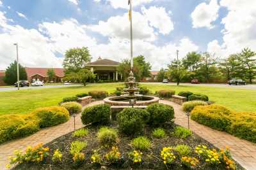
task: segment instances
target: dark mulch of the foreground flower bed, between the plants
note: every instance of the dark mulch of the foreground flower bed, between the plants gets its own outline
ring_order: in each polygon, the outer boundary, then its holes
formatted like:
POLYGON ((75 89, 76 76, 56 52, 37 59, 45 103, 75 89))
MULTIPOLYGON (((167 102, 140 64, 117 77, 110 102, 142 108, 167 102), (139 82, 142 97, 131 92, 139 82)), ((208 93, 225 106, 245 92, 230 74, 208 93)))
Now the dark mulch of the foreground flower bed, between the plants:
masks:
MULTIPOLYGON (((109 127, 113 127, 117 129, 116 122, 112 122, 109 127)), ((153 129, 150 127, 146 127, 144 129, 144 135, 151 139, 152 141, 152 148, 148 152, 143 153, 143 163, 141 165, 134 165, 131 161, 128 160, 128 152, 132 151, 132 147, 130 145, 132 137, 124 136, 119 134, 120 142, 117 144, 119 152, 122 153, 122 160, 116 164, 112 164, 110 166, 96 166, 91 164, 90 157, 93 154, 93 150, 97 150, 100 148, 99 142, 97 140, 97 131, 99 130, 100 126, 91 125, 88 128, 89 134, 88 136, 84 136, 83 138, 75 138, 72 136, 72 133, 66 134, 61 136, 60 138, 54 139, 51 143, 47 143, 45 146, 50 148, 51 155, 53 154, 54 150, 59 149, 61 153, 63 153, 63 159, 61 163, 53 164, 51 158, 49 157, 45 162, 41 164, 21 164, 16 166, 14 169, 188 169, 184 166, 181 166, 179 159, 176 160, 175 164, 166 167, 163 164, 163 161, 160 159, 160 152, 164 146, 176 146, 180 144, 186 144, 191 146, 191 148, 195 148, 196 145, 206 145, 209 148, 215 148, 211 143, 205 141, 204 139, 200 138, 196 134, 187 138, 187 139, 179 139, 172 136, 173 127, 165 127, 168 136, 164 139, 155 139, 152 138, 151 132, 153 129), (79 167, 74 167, 72 164, 72 156, 69 153, 70 150, 70 143, 72 141, 87 141, 88 146, 84 148, 82 151, 85 154, 84 164, 79 167)), ((216 148, 217 149, 217 148, 216 148)), ((111 149, 100 148, 99 153, 101 155, 105 155, 111 149)), ((192 155, 196 157, 196 155, 192 155)), ((207 169, 207 170, 218 170, 218 169, 225 169, 225 167, 209 167, 205 164, 201 163, 198 169, 207 169)), ((239 164, 237 164, 237 169, 243 169, 239 164)))

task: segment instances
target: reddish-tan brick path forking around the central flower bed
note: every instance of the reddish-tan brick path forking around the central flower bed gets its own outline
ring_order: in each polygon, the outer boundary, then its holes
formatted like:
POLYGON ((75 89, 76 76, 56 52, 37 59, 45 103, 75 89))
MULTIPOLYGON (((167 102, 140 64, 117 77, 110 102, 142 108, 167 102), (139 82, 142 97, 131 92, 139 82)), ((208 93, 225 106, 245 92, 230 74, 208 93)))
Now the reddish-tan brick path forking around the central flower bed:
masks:
MULTIPOLYGON (((94 104, 103 103, 102 101, 95 101, 88 104, 92 106, 94 104)), ((170 101, 160 101, 160 103, 172 105, 175 109, 175 123, 188 127, 188 118, 181 110, 180 105, 172 103, 170 101)), ((191 131, 195 132, 205 140, 212 143, 218 148, 225 148, 230 146, 232 156, 241 166, 248 170, 256 169, 256 145, 249 141, 236 138, 225 132, 216 131, 204 125, 197 124, 193 120, 189 121, 191 131)), ((79 116, 76 118, 76 128, 83 127, 79 116)), ((10 142, 6 142, 0 145, 0 169, 5 169, 5 165, 8 164, 8 156, 12 155, 14 150, 24 150, 28 145, 36 145, 37 143, 49 143, 53 139, 56 139, 68 132, 74 131, 74 120, 70 118, 68 122, 54 127, 49 127, 36 132, 35 134, 26 138, 16 139, 10 142)))

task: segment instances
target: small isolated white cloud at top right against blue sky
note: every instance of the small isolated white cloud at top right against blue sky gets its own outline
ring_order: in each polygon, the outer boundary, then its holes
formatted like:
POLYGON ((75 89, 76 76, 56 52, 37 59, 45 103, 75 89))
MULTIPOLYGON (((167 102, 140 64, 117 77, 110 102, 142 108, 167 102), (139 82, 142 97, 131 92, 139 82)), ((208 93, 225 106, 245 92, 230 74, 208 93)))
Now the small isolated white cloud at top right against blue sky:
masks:
POLYGON ((195 10, 191 13, 191 18, 193 20, 193 27, 207 27, 212 29, 214 22, 218 18, 218 11, 220 6, 217 0, 211 0, 209 4, 200 3, 196 6, 195 10))

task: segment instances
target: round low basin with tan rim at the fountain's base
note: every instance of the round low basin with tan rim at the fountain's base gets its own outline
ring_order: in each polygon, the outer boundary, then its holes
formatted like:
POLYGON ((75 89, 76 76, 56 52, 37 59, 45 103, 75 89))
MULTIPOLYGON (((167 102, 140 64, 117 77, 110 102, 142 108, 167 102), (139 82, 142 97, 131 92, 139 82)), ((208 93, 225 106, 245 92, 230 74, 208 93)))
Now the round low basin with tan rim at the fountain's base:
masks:
MULTIPOLYGON (((130 106, 129 99, 122 96, 108 97, 104 99, 105 104, 111 106, 130 106)), ((159 103, 159 98, 154 96, 140 96, 137 97, 136 104, 134 106, 147 106, 148 104, 159 103)))

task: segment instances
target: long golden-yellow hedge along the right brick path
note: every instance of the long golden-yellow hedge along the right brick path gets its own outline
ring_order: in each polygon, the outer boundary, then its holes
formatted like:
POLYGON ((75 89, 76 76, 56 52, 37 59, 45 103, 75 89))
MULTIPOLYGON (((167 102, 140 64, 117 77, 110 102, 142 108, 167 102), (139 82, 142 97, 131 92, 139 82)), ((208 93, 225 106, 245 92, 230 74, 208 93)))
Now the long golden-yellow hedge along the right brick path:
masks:
POLYGON ((237 113, 223 106, 196 106, 191 119, 256 143, 256 113, 237 113))

